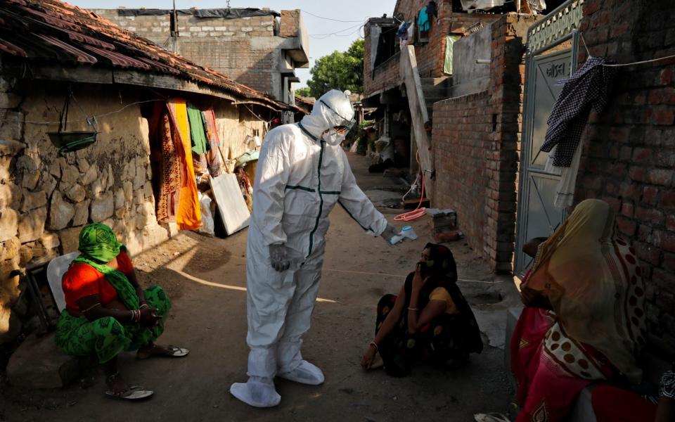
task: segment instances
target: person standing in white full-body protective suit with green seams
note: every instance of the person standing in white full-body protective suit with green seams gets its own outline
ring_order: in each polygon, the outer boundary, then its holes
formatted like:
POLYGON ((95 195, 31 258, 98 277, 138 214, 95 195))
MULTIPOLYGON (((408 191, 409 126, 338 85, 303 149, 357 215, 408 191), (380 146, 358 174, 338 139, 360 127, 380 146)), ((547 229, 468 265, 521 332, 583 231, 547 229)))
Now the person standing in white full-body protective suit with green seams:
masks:
POLYGON ((354 124, 347 94, 331 90, 311 115, 267 134, 258 160, 248 229, 248 382, 234 397, 273 407, 274 377, 323 383, 321 369, 302 359, 319 290, 328 215, 339 203, 361 227, 388 242, 397 232, 356 186, 340 143, 354 124))

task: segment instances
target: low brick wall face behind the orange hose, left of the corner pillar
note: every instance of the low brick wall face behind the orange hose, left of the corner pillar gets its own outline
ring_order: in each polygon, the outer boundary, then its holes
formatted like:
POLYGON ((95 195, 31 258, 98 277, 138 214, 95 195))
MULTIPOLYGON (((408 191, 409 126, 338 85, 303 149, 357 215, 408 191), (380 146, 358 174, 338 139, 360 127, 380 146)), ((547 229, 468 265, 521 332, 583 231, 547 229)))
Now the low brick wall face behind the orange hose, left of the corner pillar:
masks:
POLYGON ((457 212, 457 221, 477 252, 484 248, 491 144, 491 98, 488 91, 434 104, 432 145, 436 161, 434 206, 457 212))

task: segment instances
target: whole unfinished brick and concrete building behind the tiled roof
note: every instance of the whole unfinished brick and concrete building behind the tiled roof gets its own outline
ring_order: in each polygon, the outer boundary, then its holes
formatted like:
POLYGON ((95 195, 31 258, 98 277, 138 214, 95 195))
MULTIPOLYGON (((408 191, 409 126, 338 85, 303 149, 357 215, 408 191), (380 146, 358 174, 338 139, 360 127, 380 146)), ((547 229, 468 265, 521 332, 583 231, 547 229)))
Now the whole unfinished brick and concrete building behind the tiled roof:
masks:
POLYGON ((293 104, 296 68, 309 67, 309 34, 299 10, 95 9, 129 32, 264 94, 293 104))

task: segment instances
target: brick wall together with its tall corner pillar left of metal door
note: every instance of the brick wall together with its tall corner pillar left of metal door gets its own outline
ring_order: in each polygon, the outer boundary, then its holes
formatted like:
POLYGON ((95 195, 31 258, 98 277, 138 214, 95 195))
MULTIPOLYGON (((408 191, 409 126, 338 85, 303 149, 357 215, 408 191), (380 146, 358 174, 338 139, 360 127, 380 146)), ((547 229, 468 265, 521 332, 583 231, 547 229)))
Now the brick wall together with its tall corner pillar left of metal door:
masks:
POLYGON ((434 205, 458 211, 468 243, 498 272, 513 270, 523 53, 527 28, 537 19, 509 13, 492 23, 490 89, 434 105, 434 205), (468 114, 453 113, 455 107, 468 114), (456 136, 466 139, 455 142, 456 136), (449 160, 451 156, 461 162, 449 160), (469 191, 458 195, 458 184, 469 191))

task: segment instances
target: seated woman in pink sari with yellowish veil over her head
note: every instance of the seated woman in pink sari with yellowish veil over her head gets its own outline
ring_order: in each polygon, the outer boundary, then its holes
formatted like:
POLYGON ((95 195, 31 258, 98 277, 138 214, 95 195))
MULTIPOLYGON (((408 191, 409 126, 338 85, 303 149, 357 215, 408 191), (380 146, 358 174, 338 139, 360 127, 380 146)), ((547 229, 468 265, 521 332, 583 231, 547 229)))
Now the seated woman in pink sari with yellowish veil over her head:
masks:
POLYGON ((645 289, 614 212, 584 200, 538 246, 521 285, 525 309, 511 340, 522 411, 516 422, 562 420, 591 381, 641 382, 645 289))

